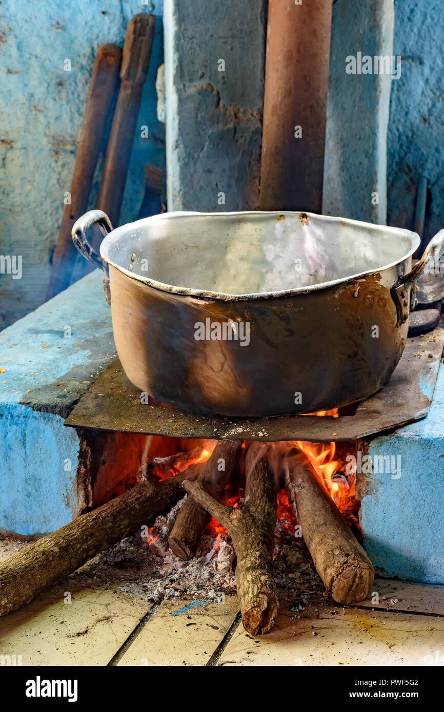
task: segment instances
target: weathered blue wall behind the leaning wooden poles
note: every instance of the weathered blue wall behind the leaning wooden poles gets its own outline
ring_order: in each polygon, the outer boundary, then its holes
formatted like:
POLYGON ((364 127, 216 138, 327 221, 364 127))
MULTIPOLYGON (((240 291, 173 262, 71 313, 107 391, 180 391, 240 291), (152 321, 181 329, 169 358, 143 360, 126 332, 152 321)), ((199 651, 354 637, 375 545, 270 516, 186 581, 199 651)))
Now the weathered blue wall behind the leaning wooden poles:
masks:
MULTIPOLYGON (((157 120, 155 78, 163 61, 162 0, 14 0, 0 11, 0 254, 21 255, 23 277, 0 275, 0 329, 45 298, 49 256, 63 214, 98 47, 123 46, 131 17, 158 15, 150 73, 135 137, 121 222, 137 217, 144 166, 165 166, 165 131, 157 120), (71 59, 72 70, 63 70, 71 59)), ((95 180, 91 196, 98 192, 95 180)))

